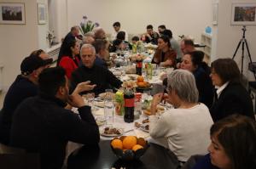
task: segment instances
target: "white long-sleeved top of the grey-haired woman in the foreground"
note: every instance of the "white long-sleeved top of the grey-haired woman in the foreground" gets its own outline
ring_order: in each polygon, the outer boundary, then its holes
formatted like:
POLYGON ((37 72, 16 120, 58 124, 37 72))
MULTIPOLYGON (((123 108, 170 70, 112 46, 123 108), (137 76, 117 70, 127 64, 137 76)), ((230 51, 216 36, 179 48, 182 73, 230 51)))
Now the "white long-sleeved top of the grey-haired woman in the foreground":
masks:
POLYGON ((179 161, 188 161, 191 155, 207 154, 210 144, 212 116, 205 104, 189 109, 172 109, 158 119, 149 116, 149 133, 155 140, 166 138, 169 149, 179 161))

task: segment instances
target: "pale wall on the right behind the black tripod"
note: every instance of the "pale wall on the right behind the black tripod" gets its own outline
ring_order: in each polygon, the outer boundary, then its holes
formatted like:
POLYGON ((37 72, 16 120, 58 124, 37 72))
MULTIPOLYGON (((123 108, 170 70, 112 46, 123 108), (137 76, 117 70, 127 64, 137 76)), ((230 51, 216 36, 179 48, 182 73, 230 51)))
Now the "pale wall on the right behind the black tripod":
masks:
MULTIPOLYGON (((242 25, 231 25, 231 4, 232 2, 239 3, 255 3, 255 0, 234 1, 234 0, 219 0, 218 4, 218 36, 217 36, 217 58, 233 57, 238 42, 242 37, 242 25)), ((256 61, 256 25, 247 25, 246 38, 248 47, 253 61, 256 61)), ((245 50, 244 59, 244 75, 249 77, 249 80, 255 80, 253 74, 247 70, 248 55, 245 50)), ((236 63, 241 68, 241 47, 236 54, 236 63)))

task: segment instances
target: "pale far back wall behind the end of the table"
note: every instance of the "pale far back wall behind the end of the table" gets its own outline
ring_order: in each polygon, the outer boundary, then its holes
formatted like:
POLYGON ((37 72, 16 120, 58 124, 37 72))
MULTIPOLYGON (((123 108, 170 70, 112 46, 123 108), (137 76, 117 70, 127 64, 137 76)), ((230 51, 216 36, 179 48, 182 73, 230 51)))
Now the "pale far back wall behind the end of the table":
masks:
POLYGON ((197 42, 201 32, 212 24, 212 1, 210 0, 67 0, 68 27, 79 25, 82 16, 100 23, 108 33, 113 22, 120 21, 128 33, 146 31, 148 24, 165 24, 174 37, 191 35, 197 42))

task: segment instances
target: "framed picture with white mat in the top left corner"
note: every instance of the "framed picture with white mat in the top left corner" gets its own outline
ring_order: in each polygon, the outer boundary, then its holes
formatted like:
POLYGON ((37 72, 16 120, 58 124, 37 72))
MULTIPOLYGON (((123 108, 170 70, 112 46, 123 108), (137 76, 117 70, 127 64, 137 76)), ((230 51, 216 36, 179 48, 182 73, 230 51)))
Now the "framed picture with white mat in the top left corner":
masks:
POLYGON ((0 3, 0 24, 26 24, 25 3, 0 3))

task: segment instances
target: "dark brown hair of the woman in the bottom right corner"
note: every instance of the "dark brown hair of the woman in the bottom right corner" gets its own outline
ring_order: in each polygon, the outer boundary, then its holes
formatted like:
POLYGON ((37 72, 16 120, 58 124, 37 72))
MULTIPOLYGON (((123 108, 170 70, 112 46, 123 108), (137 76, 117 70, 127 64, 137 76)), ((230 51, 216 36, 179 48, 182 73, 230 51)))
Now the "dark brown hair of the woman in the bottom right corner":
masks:
POLYGON ((256 124, 244 115, 230 115, 211 127, 211 136, 230 158, 232 169, 256 168, 256 124))

